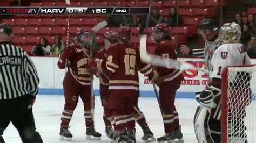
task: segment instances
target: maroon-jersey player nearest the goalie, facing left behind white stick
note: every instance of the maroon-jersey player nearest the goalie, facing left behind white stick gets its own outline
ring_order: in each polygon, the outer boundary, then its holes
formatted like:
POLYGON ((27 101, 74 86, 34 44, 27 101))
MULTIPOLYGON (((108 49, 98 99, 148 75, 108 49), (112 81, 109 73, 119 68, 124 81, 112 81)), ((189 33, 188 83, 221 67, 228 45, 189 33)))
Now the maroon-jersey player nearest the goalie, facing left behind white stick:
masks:
MULTIPOLYGON (((165 23, 159 23, 152 28, 151 39, 156 42, 156 55, 177 60, 175 47, 171 44, 170 27, 165 23)), ((159 86, 160 108, 163 110, 165 135, 158 141, 182 142, 183 134, 180 131, 179 116, 174 105, 176 91, 180 88, 180 82, 184 80, 180 70, 157 67, 157 73, 163 82, 159 86)))

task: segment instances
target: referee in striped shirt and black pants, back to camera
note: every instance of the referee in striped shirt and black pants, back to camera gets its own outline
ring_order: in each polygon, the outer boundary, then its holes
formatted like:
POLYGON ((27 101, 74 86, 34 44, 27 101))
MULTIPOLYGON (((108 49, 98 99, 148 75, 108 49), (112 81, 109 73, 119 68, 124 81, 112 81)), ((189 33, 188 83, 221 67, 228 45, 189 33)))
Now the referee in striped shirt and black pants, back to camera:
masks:
POLYGON ((38 93, 37 71, 26 52, 11 42, 11 28, 0 24, 0 142, 11 122, 23 143, 41 143, 32 113, 38 93))

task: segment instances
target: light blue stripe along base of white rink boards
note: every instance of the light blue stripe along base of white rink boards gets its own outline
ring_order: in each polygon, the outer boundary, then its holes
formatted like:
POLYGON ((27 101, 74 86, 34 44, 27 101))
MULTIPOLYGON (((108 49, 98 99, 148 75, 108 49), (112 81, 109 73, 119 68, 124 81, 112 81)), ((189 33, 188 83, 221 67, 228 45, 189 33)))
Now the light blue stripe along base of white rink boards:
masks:
MULTIPOLYGON (((64 95, 63 89, 49 89, 49 88, 39 88, 39 94, 41 95, 64 95)), ((94 90, 94 94, 99 96, 99 90, 94 90)), ((154 98, 156 95, 154 91, 140 91, 140 97, 150 97, 154 98)), ((176 98, 194 98, 194 92, 177 92, 176 98)))

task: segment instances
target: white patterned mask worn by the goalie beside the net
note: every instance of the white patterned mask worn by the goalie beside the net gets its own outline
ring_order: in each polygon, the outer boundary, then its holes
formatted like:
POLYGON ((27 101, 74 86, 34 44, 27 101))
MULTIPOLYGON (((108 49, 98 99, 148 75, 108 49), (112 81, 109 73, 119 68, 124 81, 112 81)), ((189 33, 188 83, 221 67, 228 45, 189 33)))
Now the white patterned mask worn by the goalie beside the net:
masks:
POLYGON ((225 23, 219 31, 221 44, 237 43, 241 37, 241 27, 236 23, 225 23))

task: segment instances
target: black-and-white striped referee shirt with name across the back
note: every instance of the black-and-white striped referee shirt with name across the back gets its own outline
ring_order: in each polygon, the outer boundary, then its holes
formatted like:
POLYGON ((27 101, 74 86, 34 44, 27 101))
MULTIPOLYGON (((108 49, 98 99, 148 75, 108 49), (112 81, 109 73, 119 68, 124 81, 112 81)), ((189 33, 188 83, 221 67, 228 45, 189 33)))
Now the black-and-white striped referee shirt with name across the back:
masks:
POLYGON ((21 48, 0 42, 0 99, 36 96, 39 78, 30 57, 21 48))

